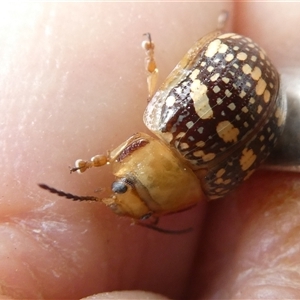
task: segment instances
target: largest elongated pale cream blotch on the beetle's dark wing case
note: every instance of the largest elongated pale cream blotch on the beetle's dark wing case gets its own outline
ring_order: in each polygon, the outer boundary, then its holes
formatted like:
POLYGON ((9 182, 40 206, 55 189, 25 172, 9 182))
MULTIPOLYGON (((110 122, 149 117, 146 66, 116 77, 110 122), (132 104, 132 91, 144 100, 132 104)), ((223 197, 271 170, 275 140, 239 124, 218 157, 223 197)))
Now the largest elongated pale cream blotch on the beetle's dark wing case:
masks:
POLYGON ((194 101, 194 108, 197 115, 201 119, 210 119, 213 117, 213 110, 209 105, 207 97, 207 86, 202 84, 200 80, 194 80, 191 84, 190 96, 194 101))

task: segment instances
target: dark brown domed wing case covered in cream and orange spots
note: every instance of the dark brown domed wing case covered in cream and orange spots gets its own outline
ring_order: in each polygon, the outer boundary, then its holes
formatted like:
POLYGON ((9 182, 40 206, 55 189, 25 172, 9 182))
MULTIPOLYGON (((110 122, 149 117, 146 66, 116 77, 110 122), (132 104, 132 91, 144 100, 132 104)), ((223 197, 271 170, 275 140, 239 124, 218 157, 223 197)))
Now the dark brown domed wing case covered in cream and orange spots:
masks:
POLYGON ((211 199, 223 197, 267 158, 282 132, 280 78, 251 39, 200 39, 149 102, 144 122, 188 161, 211 199))

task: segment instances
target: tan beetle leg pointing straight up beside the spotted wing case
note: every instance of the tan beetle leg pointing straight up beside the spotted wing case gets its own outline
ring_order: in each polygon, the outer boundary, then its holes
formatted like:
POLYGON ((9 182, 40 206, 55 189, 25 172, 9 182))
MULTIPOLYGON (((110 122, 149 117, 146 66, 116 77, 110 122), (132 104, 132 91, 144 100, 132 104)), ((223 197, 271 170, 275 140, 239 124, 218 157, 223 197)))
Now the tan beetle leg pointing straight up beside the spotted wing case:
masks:
POLYGON ((145 33, 148 40, 143 41, 142 48, 146 52, 145 58, 145 68, 147 72, 147 85, 148 85, 148 101, 152 98, 157 84, 158 69, 156 67, 156 62, 154 59, 154 43, 151 40, 150 33, 145 33))

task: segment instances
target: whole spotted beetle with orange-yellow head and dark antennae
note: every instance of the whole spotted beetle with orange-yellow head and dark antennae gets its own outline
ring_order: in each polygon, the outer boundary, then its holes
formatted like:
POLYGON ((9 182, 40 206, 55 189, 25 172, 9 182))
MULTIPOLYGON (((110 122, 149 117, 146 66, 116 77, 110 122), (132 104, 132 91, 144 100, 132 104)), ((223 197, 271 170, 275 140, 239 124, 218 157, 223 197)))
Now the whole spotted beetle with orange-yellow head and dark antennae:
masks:
POLYGON ((107 155, 76 161, 71 172, 111 165, 116 180, 109 198, 40 184, 72 200, 103 202, 137 223, 227 195, 268 157, 286 118, 280 76, 250 38, 218 30, 207 34, 155 92, 154 43, 146 35, 144 123, 157 138, 136 133, 107 155))

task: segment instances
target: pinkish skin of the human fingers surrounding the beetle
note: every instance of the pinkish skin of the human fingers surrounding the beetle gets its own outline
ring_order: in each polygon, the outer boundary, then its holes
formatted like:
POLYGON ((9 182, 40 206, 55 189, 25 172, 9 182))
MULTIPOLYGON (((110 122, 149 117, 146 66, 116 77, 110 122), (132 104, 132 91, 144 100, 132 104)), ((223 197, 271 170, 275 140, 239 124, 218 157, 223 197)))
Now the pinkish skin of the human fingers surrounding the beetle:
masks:
POLYGON ((221 9, 232 16, 226 29, 253 38, 276 65, 294 67, 298 3, 0 8, 3 299, 114 290, 131 291, 91 299, 164 299, 134 290, 174 299, 299 298, 298 174, 258 171, 225 199, 164 217, 164 228, 194 228, 179 236, 130 226, 100 203, 71 202, 36 186, 78 195, 109 189, 109 167, 69 175, 68 166, 147 132, 144 32, 156 43, 160 82, 214 30, 221 9))

